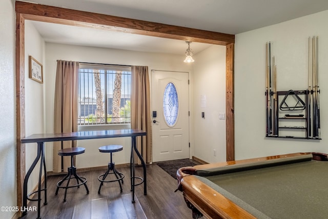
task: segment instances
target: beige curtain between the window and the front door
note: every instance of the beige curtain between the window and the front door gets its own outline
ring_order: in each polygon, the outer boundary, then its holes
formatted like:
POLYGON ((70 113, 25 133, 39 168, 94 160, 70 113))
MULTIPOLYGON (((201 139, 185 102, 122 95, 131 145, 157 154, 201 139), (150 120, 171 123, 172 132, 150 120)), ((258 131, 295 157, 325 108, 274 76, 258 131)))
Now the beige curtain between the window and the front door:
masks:
POLYGON ((153 146, 148 66, 132 66, 131 72, 131 128, 147 132, 146 136, 137 137, 137 148, 144 161, 151 163, 153 146))

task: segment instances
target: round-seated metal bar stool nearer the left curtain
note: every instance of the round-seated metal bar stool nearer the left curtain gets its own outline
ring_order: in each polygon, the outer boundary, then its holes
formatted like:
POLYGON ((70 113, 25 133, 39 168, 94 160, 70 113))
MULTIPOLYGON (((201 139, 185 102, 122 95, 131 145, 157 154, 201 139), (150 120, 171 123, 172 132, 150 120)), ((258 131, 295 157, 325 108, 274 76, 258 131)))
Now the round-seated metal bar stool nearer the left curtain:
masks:
POLYGON ((77 187, 79 188, 80 185, 84 185, 86 187, 87 190, 87 194, 89 194, 89 189, 87 186, 87 179, 85 177, 80 177, 76 174, 76 167, 74 167, 73 165, 73 156, 77 155, 77 154, 81 154, 84 153, 86 151, 85 148, 81 148, 81 147, 74 147, 74 148, 65 148, 65 149, 61 149, 58 151, 58 155, 60 156, 71 156, 71 166, 68 167, 68 173, 66 174, 66 176, 64 176, 64 178, 62 180, 60 180, 57 183, 57 189, 56 189, 56 195, 58 194, 58 190, 59 188, 63 188, 65 189, 65 196, 64 196, 64 202, 66 202, 66 194, 67 194, 67 189, 68 188, 73 188, 73 187, 77 187), (69 185, 71 178, 75 178, 76 179, 76 184, 75 185, 69 185), (61 186, 61 184, 63 184, 65 181, 67 181, 66 186, 61 186), (79 181, 81 183, 79 183, 79 181))

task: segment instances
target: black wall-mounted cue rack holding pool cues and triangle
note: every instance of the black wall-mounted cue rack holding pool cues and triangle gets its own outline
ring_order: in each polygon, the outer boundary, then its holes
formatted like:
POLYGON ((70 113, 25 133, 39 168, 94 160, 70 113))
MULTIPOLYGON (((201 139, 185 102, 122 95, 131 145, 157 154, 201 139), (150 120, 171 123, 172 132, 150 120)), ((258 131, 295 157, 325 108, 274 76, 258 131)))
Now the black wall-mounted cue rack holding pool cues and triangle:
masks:
POLYGON ((266 136, 320 140, 320 89, 318 74, 318 36, 309 37, 309 87, 304 90, 277 91, 277 68, 267 43, 265 96, 266 136))

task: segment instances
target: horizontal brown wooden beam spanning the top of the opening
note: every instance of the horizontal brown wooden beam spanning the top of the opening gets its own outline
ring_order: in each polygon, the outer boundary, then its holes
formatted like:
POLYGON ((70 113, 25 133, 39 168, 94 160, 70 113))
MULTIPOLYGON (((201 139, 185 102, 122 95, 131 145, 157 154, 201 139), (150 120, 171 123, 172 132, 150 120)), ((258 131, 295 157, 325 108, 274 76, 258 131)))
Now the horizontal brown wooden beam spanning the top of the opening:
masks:
POLYGON ((178 27, 27 2, 16 1, 16 13, 20 13, 26 19, 33 21, 99 28, 110 31, 179 39, 182 41, 208 43, 222 46, 235 43, 235 35, 232 34, 178 27))

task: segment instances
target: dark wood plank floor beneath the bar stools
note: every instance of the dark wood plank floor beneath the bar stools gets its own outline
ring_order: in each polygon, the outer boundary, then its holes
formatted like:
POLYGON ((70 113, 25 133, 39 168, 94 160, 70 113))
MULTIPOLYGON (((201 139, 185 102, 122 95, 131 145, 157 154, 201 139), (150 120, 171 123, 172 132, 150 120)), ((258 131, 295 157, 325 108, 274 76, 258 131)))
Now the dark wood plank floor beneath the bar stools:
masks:
MULTIPOLYGON (((86 177, 90 193, 84 186, 67 190, 67 201, 63 202, 64 189, 55 195, 56 183, 63 176, 48 176, 48 205, 40 208, 42 218, 192 218, 181 192, 174 192, 177 182, 156 164, 147 165, 147 195, 144 186, 135 189, 135 203, 131 202, 130 168, 117 168, 125 174, 123 192, 117 182, 105 183, 98 194, 98 175, 105 170, 80 172, 86 177)), ((136 167, 136 175, 142 176, 142 167, 136 167)), ((30 202, 29 206, 36 206, 30 202)), ((36 212, 28 212, 23 219, 36 218, 36 212)))

